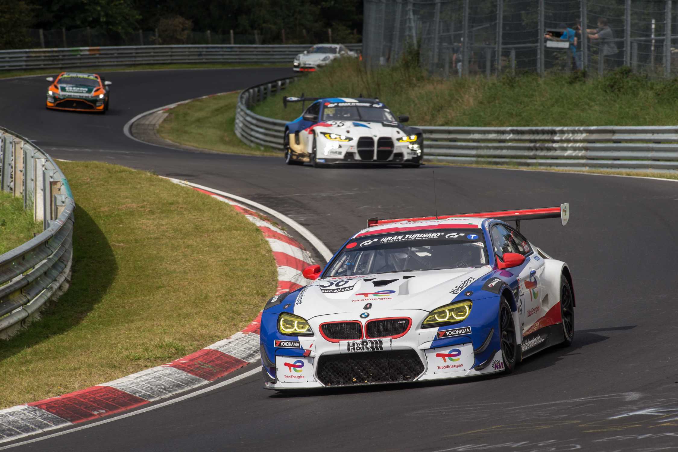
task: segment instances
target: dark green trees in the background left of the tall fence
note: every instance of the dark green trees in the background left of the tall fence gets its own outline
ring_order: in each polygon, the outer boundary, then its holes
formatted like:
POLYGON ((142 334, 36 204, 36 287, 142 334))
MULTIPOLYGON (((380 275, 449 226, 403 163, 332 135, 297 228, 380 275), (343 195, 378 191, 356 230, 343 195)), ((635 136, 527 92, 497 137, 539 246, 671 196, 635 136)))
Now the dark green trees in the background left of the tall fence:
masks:
POLYGON ((1 49, 29 45, 30 29, 92 28, 123 39, 156 30, 159 44, 193 31, 256 35, 258 43, 360 42, 361 0, 0 0, 1 49), (9 31, 11 30, 11 31, 9 31))

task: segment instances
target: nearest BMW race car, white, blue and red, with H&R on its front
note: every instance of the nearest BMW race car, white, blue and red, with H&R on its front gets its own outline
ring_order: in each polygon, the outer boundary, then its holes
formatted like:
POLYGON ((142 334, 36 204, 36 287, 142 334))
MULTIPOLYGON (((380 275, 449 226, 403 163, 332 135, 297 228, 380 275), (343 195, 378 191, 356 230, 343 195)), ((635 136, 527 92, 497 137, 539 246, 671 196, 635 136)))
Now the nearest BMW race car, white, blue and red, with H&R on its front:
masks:
POLYGON ((264 387, 414 382, 509 373, 574 337, 570 268, 506 224, 544 209, 368 220, 313 283, 268 300, 264 387), (503 220, 503 221, 502 221, 503 220))

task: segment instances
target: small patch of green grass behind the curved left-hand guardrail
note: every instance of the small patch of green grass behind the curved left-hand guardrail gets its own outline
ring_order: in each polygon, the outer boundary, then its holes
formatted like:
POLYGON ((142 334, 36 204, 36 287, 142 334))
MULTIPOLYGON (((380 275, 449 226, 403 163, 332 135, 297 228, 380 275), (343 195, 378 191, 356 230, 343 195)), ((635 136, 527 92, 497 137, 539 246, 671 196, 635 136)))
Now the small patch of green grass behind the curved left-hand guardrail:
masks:
POLYGON ((24 210, 24 199, 0 191, 0 254, 33 239, 43 230, 42 222, 33 221, 33 211, 24 210))

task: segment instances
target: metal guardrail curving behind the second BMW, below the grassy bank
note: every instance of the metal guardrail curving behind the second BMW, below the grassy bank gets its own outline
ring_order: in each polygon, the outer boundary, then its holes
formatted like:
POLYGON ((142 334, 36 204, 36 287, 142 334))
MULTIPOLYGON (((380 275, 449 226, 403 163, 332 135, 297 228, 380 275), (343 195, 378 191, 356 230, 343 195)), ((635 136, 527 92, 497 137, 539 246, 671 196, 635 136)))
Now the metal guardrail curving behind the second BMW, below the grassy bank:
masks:
MULTIPOLYGON (((279 79, 241 91, 235 133, 250 146, 283 150, 285 123, 250 108, 289 87, 279 79)), ((678 126, 429 127, 426 160, 566 168, 678 169, 678 126)))

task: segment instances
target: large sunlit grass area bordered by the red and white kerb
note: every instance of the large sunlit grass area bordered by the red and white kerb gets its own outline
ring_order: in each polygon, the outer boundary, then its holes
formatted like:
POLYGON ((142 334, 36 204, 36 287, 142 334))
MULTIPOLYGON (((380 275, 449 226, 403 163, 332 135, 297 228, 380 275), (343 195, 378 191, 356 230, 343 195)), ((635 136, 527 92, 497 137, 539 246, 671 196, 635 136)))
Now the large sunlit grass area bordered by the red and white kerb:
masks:
POLYGON ((59 166, 77 203, 73 280, 0 341, 0 408, 180 358, 240 331, 275 293, 268 243, 230 205, 117 165, 59 166))

